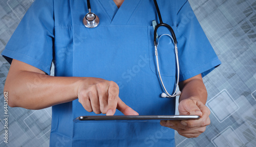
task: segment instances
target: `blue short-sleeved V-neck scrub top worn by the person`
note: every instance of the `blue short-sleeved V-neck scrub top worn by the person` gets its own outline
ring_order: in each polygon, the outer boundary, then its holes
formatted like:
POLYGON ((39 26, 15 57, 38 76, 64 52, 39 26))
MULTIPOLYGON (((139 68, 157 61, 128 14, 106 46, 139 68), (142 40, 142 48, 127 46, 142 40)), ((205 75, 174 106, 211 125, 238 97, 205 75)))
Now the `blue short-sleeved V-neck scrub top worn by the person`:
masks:
MULTIPOLYGON (((158 1, 164 23, 178 41, 180 81, 209 73, 221 64, 189 3, 158 1)), ((86 28, 85 0, 36 0, 2 54, 7 60, 30 64, 55 76, 98 77, 115 81, 119 97, 140 115, 175 114, 175 98, 163 92, 156 70, 152 20, 159 23, 152 0, 125 0, 118 9, 112 0, 91 1, 100 23, 86 28)), ((170 34, 159 28, 158 35, 170 34)), ((164 36, 159 64, 169 93, 175 85, 174 46, 164 36)), ((174 130, 159 123, 74 123, 87 112, 78 100, 52 106, 50 146, 175 146, 174 130)), ((122 115, 120 111, 116 115, 122 115)))

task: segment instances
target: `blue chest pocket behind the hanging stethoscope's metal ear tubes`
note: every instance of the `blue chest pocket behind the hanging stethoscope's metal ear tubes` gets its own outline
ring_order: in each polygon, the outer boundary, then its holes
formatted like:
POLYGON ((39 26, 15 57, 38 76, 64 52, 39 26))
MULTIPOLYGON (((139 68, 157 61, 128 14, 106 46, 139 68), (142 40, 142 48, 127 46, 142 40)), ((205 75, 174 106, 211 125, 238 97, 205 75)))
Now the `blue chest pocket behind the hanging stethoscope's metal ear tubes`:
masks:
MULTIPOLYGON (((158 36, 161 36, 163 34, 170 35, 170 32, 168 31, 167 28, 159 27, 157 34, 158 36)), ((148 26, 148 53, 150 56, 150 68, 153 73, 158 75, 153 38, 154 38, 154 28, 153 26, 148 26)), ((159 69, 160 69, 161 76, 175 76, 177 67, 176 67, 175 47, 174 47, 173 40, 167 35, 162 36, 159 41, 157 50, 158 50, 159 69)))

